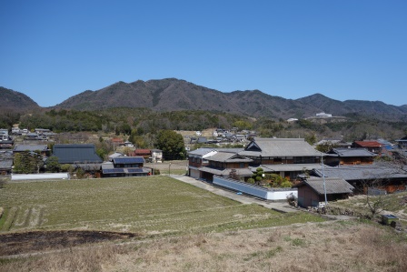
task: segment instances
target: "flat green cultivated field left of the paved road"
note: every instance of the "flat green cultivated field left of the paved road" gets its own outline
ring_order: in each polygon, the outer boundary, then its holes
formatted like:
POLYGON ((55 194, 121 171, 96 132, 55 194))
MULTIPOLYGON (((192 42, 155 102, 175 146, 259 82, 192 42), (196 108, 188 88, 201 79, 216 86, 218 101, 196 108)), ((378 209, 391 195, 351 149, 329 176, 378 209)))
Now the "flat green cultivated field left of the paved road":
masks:
POLYGON ((89 229, 145 235, 323 221, 242 205, 168 176, 11 183, 0 230, 89 229))

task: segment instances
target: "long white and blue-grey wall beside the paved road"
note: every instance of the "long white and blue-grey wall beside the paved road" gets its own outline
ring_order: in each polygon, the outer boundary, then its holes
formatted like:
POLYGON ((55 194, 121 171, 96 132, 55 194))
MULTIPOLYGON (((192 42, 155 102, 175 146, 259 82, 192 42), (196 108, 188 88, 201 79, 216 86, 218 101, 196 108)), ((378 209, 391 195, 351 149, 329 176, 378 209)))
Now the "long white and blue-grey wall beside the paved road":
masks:
POLYGON ((246 182, 241 182, 226 178, 223 176, 213 176, 213 185, 223 186, 234 191, 242 192, 246 195, 257 196, 266 200, 286 200, 287 196, 293 194, 298 197, 296 188, 264 188, 263 186, 254 186, 246 182))

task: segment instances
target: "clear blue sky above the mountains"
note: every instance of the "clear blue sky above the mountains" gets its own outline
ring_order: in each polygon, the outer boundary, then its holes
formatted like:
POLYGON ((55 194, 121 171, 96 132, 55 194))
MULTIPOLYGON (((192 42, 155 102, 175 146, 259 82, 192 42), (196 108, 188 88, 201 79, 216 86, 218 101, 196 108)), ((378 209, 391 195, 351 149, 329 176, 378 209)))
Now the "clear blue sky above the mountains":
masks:
POLYGON ((0 86, 40 106, 166 77, 405 105, 407 1, 0 0, 0 86))

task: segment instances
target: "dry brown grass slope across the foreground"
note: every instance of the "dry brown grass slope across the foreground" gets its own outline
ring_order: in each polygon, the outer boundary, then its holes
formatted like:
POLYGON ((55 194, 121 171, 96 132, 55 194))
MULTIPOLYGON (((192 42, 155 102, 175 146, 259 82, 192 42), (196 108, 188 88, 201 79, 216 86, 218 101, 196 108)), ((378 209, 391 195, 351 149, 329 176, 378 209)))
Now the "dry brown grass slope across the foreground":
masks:
MULTIPOLYGON (((165 237, 3 260, 0 271, 407 271, 407 237, 357 221, 165 237)), ((1 263, 0 263, 1 264, 1 263)))

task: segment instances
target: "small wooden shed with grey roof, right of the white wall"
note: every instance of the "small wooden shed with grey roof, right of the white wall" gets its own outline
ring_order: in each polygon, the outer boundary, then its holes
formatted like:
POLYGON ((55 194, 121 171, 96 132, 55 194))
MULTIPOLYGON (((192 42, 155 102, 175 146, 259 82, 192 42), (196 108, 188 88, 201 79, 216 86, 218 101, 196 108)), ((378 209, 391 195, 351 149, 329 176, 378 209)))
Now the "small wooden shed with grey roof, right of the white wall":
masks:
POLYGON ((320 202, 346 199, 353 192, 353 186, 342 178, 325 177, 325 189, 322 177, 310 177, 294 187, 298 188, 298 205, 300 207, 318 207, 320 202))

